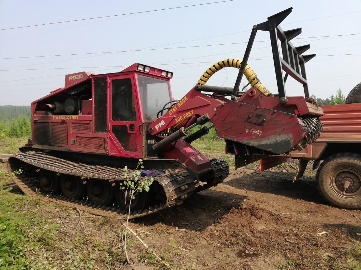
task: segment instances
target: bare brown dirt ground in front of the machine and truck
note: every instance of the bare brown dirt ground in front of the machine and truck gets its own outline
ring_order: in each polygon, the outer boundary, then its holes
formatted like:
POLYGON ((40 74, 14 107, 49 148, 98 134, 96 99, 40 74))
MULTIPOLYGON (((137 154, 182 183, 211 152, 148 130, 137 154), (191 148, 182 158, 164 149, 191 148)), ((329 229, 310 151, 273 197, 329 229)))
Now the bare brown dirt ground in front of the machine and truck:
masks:
MULTIPOLYGON (((357 269, 347 267, 344 252, 361 240, 360 210, 328 206, 313 177, 293 184, 291 179, 284 170, 231 168, 224 183, 180 206, 132 220, 130 227, 174 269, 357 269)), ((73 209, 46 204, 39 211, 77 216, 73 209)), ((78 233, 107 247, 121 242, 119 220, 83 216, 78 233)), ((76 218, 53 221, 68 234, 78 223, 76 218)), ((139 262, 147 253, 134 237, 130 240, 130 257, 139 262)), ((104 258, 104 252, 96 256, 104 258)), ((118 269, 121 264, 99 260, 97 265, 118 269)), ((166 269, 148 258, 127 268, 159 267, 166 269)))

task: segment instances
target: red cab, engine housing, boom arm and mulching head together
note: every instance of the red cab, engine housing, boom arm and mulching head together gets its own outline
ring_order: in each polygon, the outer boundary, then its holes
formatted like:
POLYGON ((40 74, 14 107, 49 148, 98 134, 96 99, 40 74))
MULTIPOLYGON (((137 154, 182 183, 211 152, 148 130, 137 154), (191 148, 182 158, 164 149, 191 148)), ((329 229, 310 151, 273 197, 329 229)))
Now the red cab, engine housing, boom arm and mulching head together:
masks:
POLYGON ((151 147, 165 138, 161 134, 167 130, 187 128, 207 115, 218 136, 226 140, 226 153, 279 154, 305 136, 303 115, 322 114, 303 97, 290 97, 283 105, 277 97, 266 98, 251 88, 231 101, 193 87, 164 116, 155 119, 155 112, 172 100, 171 76, 168 71, 137 63, 118 73, 66 75, 65 87, 32 103, 32 146, 114 157, 169 158, 201 173, 210 168, 209 159, 183 139, 159 152, 151 147), (159 104, 153 104, 154 96, 159 104), (73 99, 78 104, 71 103, 73 99), (67 106, 73 111, 65 112, 67 106))

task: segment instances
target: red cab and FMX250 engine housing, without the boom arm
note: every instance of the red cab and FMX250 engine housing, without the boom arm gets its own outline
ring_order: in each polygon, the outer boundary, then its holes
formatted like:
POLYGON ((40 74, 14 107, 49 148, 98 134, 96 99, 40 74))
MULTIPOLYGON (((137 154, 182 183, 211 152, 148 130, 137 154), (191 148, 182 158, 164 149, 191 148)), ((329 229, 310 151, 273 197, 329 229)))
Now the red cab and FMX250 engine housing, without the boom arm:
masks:
MULTIPOLYGON (((164 83, 167 87, 165 95, 168 95, 168 98, 166 97, 168 101, 172 99, 169 84, 171 77, 162 76, 162 70, 153 67, 149 67, 149 72, 139 71, 138 66, 139 64, 133 64, 122 72, 103 75, 87 72, 66 75, 65 87, 52 91, 51 94, 31 103, 32 144, 35 147, 65 151, 134 158, 146 157, 147 152, 144 151, 143 144, 147 141, 143 140, 142 132, 144 123, 151 120, 144 119, 137 75, 146 75, 147 78, 155 78, 160 83, 164 83), (104 86, 102 86, 104 92, 98 99, 102 99, 101 102, 104 104, 94 102, 97 100, 95 96, 97 92, 92 89, 97 87, 94 86, 94 81, 96 84, 99 78, 104 80, 104 86), (127 121, 118 121, 112 116, 115 112, 112 111, 115 104, 112 103, 111 85, 112 82, 119 82, 119 80, 131 83, 127 86, 131 86, 129 90, 132 94, 129 96, 132 96, 130 102, 134 106, 135 115, 128 117, 127 121), (70 84, 69 81, 74 82, 70 84), (84 92, 87 96, 86 99, 81 100, 79 114, 74 112, 77 115, 68 115, 65 112, 53 113, 47 107, 47 104, 54 104, 58 100, 72 96, 79 97, 79 92, 84 92), (100 113, 103 113, 101 119, 105 125, 103 129, 96 126, 100 113), (114 134, 118 131, 122 132, 121 140, 118 140, 117 134, 114 134)), ((161 105, 163 104, 159 104, 161 105)))

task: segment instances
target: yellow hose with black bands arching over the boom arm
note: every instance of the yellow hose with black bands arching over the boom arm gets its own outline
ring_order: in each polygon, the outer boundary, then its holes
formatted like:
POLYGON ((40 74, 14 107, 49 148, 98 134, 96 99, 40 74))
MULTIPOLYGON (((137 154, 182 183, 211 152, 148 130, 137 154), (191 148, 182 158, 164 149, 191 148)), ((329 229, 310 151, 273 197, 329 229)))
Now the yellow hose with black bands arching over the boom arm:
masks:
MULTIPOLYGON (((199 78, 198 83, 200 85, 205 85, 205 83, 209 80, 209 78, 216 73, 217 71, 221 70, 224 67, 235 67, 240 68, 242 63, 242 60, 240 59, 230 59, 227 58, 225 60, 221 60, 218 63, 215 63, 214 65, 210 66, 203 75, 199 78)), ((253 71, 253 69, 246 65, 244 69, 244 76, 247 78, 248 82, 251 84, 252 87, 255 87, 258 91, 260 91, 265 96, 270 95, 270 91, 260 82, 260 80, 257 78, 256 72, 253 71)))

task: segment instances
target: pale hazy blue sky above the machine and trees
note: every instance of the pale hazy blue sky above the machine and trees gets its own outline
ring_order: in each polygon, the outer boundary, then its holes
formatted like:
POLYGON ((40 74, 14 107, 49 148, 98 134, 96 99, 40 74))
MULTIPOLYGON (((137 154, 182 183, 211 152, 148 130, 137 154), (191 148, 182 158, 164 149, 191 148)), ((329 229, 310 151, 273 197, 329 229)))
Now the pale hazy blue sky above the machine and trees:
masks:
MULTIPOLYGON (((0 29, 195 5, 0 30, 0 58, 31 56, 0 59, 0 105, 30 105, 64 87, 66 74, 112 73, 133 63, 174 72, 173 96, 182 98, 213 63, 225 58, 242 59, 247 43, 203 45, 247 42, 254 24, 291 6, 292 13, 280 26, 284 31, 302 27, 293 45, 310 44, 304 54, 317 55, 306 63, 310 94, 327 98, 340 88, 346 96, 361 81, 361 0, 235 0, 199 5, 217 1, 0 0, 0 29), (346 34, 359 35, 320 37, 346 34), (199 47, 178 48, 189 46, 199 47), (127 52, 37 57, 109 51, 127 52)), ((269 32, 257 32, 248 64, 271 93, 277 93, 268 40, 269 32)), ((233 87, 237 74, 235 68, 224 68, 207 85, 233 87)), ((243 77, 241 86, 245 84, 243 77)), ((286 93, 304 95, 302 85, 290 77, 286 93)))

